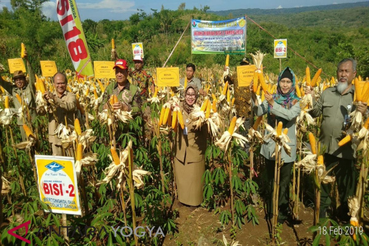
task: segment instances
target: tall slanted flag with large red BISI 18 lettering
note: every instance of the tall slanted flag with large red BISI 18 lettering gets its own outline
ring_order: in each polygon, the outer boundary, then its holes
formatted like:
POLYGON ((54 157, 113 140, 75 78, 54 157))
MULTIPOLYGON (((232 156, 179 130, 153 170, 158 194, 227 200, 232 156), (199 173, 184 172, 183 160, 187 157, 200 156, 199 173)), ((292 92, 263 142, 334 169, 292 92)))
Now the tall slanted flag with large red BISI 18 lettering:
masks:
POLYGON ((77 75, 93 76, 92 62, 76 1, 57 0, 56 13, 77 75))

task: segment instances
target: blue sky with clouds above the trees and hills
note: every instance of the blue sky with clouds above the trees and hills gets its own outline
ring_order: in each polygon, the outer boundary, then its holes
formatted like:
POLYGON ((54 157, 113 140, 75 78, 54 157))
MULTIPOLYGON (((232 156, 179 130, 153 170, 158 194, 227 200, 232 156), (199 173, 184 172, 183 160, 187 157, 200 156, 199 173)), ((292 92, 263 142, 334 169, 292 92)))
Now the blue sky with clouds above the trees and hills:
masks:
MULTIPOLYGON (((92 19, 95 21, 102 19, 126 20, 130 15, 137 12, 137 8, 143 9, 146 13, 151 13, 150 8, 164 8, 176 10, 180 3, 186 3, 186 8, 192 9, 194 6, 210 6, 210 10, 230 10, 238 8, 292 8, 302 6, 326 5, 334 3, 354 3, 360 0, 179 0, 179 1, 152 1, 152 0, 76 0, 79 14, 82 20, 92 19)), ((0 0, 0 7, 10 8, 10 0, 0 0)), ((44 3, 44 14, 52 20, 56 20, 56 1, 44 3)))

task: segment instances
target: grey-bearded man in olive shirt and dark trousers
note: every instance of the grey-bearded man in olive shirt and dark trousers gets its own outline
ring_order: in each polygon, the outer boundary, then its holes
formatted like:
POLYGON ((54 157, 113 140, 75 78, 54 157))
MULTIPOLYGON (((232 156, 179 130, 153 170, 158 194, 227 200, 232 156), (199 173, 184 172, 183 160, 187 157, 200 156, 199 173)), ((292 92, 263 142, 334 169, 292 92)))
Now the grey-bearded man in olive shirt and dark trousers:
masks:
MULTIPOLYGON (((307 87, 305 94, 313 97, 313 109, 310 115, 318 117, 323 115, 321 121, 321 131, 319 141, 321 146, 325 146, 324 164, 326 170, 331 169, 330 173, 336 177, 338 195, 341 205, 338 209, 339 219, 348 222, 349 216, 347 198, 354 195, 356 169, 355 169, 355 150, 356 146, 348 143, 341 147, 338 142, 344 138, 344 131, 349 127, 349 114, 356 110, 363 115, 366 114, 367 103, 353 105, 355 87, 352 80, 356 76, 356 61, 345 58, 338 63, 337 80, 335 87, 327 88, 323 91, 320 98, 315 102, 315 96, 311 87, 307 87)), ((321 184, 320 198, 320 218, 324 218, 327 208, 331 204, 330 184, 321 184)))

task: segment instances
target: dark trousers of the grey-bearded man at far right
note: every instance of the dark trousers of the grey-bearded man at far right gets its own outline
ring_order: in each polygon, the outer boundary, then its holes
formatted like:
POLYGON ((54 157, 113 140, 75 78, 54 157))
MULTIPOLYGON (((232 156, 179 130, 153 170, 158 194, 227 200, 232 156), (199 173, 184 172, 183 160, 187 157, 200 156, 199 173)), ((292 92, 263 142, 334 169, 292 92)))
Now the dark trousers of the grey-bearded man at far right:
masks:
MULTIPOLYGON (((339 201, 341 203, 339 214, 346 215, 348 213, 347 198, 352 197, 355 192, 356 169, 355 161, 339 158, 333 155, 324 154, 325 169, 328 171, 334 165, 336 167, 328 175, 335 176, 338 188, 339 201)), ((320 191, 320 218, 325 217, 327 208, 331 205, 331 184, 321 184, 320 191)))

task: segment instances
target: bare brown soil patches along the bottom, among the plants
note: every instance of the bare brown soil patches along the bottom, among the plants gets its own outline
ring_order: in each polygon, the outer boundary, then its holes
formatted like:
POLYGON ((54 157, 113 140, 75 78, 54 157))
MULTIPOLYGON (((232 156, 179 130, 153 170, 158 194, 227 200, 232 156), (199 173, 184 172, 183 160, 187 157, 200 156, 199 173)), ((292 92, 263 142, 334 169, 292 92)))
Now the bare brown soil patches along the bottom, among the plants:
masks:
MULTIPOLYGON (((173 209, 176 207, 173 207, 173 209)), ((223 235, 230 241, 229 226, 222 230, 219 214, 208 212, 207 209, 197 208, 190 211, 187 207, 176 208, 179 211, 179 217, 175 220, 178 232, 174 235, 167 235, 163 245, 168 246, 206 246, 218 245, 224 246, 223 235)), ((265 221, 263 210, 258 210, 259 225, 253 226, 252 223, 242 225, 237 230, 236 240, 242 246, 268 245, 270 242, 268 224, 265 221)), ((313 225, 313 209, 300 208, 299 224, 289 225, 288 222, 283 224, 281 238, 283 245, 311 245, 312 234, 307 229, 313 225)))

